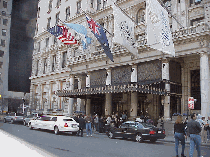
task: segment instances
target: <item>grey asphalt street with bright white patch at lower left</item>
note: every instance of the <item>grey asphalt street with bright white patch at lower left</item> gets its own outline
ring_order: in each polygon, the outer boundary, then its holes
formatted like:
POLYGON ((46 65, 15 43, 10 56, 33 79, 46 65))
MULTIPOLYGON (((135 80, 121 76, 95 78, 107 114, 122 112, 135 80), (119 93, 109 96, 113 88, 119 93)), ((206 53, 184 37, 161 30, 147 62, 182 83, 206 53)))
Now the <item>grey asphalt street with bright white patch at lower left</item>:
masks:
MULTIPOLYGON (((165 124, 171 127, 173 124, 165 124)), ((7 156, 175 156, 173 129, 166 132, 166 138, 156 143, 136 143, 132 140, 109 139, 104 133, 94 132, 93 137, 54 135, 51 132, 29 130, 20 124, 0 122, 0 149, 7 156), (46 140, 47 139, 47 140, 46 140), (12 151, 11 151, 12 150, 12 151)), ((180 146, 181 147, 181 146, 180 146)), ((186 155, 189 153, 189 138, 186 141, 186 155)), ((202 144, 202 155, 209 157, 210 142, 202 144)), ((194 152, 196 156, 196 151, 194 152)))

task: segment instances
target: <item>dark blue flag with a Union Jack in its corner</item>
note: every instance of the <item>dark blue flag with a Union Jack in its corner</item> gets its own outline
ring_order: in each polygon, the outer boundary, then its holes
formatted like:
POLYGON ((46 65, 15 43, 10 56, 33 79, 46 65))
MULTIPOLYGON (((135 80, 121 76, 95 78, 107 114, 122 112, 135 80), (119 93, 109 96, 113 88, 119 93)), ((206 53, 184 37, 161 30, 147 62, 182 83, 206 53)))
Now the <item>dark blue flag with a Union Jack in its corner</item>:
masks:
POLYGON ((95 35, 95 37, 100 42, 101 46, 104 49, 104 52, 109 57, 109 59, 112 62, 114 62, 111 50, 109 48, 109 43, 106 37, 106 33, 104 32, 103 27, 99 23, 95 22, 92 18, 88 17, 87 15, 86 15, 86 19, 88 22, 88 26, 91 29, 91 32, 95 35))

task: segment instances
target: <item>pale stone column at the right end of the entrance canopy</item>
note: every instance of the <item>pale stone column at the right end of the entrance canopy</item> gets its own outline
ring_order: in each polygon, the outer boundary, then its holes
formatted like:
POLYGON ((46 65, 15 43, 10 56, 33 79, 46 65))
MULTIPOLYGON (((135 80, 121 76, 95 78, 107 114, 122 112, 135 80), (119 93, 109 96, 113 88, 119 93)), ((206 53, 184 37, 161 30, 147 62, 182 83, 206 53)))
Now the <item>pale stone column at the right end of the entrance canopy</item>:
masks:
MULTIPOLYGON (((169 80, 169 60, 164 59, 162 61, 162 79, 169 80)), ((170 92, 170 84, 166 82, 165 84, 166 92, 170 92)), ((170 96, 165 96, 164 100, 164 118, 170 119, 170 96)))

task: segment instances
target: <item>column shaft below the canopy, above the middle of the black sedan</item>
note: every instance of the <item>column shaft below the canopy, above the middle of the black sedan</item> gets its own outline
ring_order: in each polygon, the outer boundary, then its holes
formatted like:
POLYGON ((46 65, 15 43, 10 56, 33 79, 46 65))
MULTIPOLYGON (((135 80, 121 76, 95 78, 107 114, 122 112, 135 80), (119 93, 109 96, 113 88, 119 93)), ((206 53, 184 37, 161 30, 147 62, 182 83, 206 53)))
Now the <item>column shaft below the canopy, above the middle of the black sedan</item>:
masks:
POLYGON ((134 118, 137 116, 137 107, 138 107, 137 92, 131 92, 131 108, 130 108, 131 118, 134 118))

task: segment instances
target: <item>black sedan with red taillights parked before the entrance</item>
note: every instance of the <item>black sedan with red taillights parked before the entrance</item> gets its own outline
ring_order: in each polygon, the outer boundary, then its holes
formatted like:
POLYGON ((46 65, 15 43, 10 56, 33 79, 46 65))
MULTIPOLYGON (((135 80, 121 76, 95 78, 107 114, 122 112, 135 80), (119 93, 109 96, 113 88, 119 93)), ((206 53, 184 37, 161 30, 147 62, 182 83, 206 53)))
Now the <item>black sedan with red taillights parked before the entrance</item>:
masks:
POLYGON ((164 139, 166 137, 165 129, 135 121, 124 122, 119 128, 111 127, 106 134, 109 138, 131 138, 137 142, 142 142, 143 140, 155 142, 157 139, 164 139))

